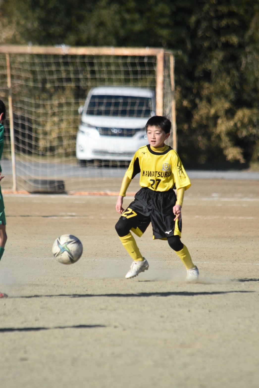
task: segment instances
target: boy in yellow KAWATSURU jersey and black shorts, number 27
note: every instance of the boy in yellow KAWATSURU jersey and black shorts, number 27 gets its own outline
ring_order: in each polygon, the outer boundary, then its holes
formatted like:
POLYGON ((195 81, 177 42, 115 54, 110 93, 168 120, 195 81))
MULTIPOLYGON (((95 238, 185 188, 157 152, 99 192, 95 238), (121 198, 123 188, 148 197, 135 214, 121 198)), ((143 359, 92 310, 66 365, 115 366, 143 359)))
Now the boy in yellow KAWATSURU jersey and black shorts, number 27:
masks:
POLYGON ((182 260, 186 270, 186 281, 198 281, 199 271, 193 264, 186 246, 181 242, 184 191, 191 182, 177 153, 165 145, 169 138, 171 122, 164 116, 153 116, 146 123, 148 145, 135 153, 122 180, 116 211, 121 214, 115 225, 122 245, 134 260, 126 279, 148 270, 149 264, 141 255, 131 232, 141 237, 149 223, 153 227, 153 239, 167 240, 169 246, 182 260), (123 197, 131 180, 140 173, 141 189, 126 210, 122 208, 123 197), (176 187, 177 196, 174 192, 176 187))

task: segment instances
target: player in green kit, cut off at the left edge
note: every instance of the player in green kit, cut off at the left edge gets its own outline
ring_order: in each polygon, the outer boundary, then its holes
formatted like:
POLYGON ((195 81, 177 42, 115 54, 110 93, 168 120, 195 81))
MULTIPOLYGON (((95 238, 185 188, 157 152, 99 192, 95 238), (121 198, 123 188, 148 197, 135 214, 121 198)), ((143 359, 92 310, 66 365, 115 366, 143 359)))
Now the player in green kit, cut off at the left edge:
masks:
MULTIPOLYGON (((3 103, 2 100, 0 100, 0 160, 2 158, 2 152, 3 152, 3 131, 4 131, 3 120, 5 120, 5 112, 6 112, 5 104, 3 103)), ((3 178, 4 177, 2 175, 2 168, 0 165, 0 181, 3 178)), ((1 186, 0 186, 0 260, 3 256, 3 251, 5 250, 4 249, 5 243, 7 240, 7 234, 5 231, 6 221, 5 221, 4 209, 5 209, 5 206, 3 204, 3 196, 2 196, 1 186)), ((0 298, 6 298, 6 297, 7 297, 6 294, 0 293, 0 298)))

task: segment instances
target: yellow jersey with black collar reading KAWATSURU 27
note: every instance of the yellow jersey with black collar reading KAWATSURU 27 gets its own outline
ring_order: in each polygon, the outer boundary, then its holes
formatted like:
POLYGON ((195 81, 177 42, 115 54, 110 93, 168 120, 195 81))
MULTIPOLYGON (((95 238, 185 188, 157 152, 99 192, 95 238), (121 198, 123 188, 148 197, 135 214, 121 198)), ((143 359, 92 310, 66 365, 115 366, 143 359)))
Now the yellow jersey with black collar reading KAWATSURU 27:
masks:
POLYGON ((149 144, 139 148, 130 162, 126 175, 131 180, 137 173, 140 173, 140 186, 153 191, 168 191, 181 187, 187 190, 191 186, 181 159, 168 145, 159 149, 149 144))

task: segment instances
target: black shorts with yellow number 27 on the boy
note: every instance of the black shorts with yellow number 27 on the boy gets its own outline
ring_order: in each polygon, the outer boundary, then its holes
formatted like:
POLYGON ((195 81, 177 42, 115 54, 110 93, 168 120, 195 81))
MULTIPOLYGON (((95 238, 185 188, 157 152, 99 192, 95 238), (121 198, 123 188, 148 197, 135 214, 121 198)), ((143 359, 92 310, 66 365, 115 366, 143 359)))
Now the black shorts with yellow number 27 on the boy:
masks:
POLYGON ((176 204, 174 190, 153 191, 141 188, 133 202, 122 213, 121 218, 127 219, 131 230, 138 236, 147 229, 151 222, 153 239, 167 239, 170 236, 181 237, 182 220, 174 221, 173 206, 176 204))

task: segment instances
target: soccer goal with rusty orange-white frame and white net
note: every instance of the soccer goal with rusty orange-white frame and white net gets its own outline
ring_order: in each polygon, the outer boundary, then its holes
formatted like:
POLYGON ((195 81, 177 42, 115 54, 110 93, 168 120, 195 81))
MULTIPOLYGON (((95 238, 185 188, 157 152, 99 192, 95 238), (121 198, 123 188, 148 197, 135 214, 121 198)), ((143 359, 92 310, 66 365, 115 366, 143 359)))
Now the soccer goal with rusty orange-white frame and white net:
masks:
MULTIPOLYGON (((120 151, 115 149, 110 160, 104 160, 99 154, 78 163, 76 137, 83 117, 82 108, 81 111, 79 108, 84 106, 94 87, 127 87, 130 93, 136 87, 153 91, 155 107, 151 112, 149 106, 149 117, 156 113, 172 121, 167 144, 176 149, 174 58, 171 52, 163 49, 0 46, 0 84, 0 99, 7 107, 1 161, 5 175, 2 189, 118 193, 129 163, 128 160, 123 163, 123 155, 126 159, 130 154, 126 152, 127 143, 126 151, 122 151, 120 157, 116 157, 116 152, 120 151)), ((116 98, 116 102, 111 101, 108 106, 118 104, 116 98)), ((144 102, 135 102, 142 104, 144 112, 144 102)), ((124 116, 134 116, 132 101, 124 104, 124 116), (127 104, 131 113, 127 113, 127 104)), ((130 144, 136 130, 131 133, 129 128, 118 126, 114 128, 110 118, 96 126, 100 139, 105 139, 104 146, 118 135, 120 140, 130 144)), ((139 129, 143 129, 143 125, 139 129)), ((85 134, 90 131, 91 128, 85 134)), ((89 140, 85 139, 85 142, 87 147, 89 140)), ((131 189, 135 190, 134 185, 131 189)))

